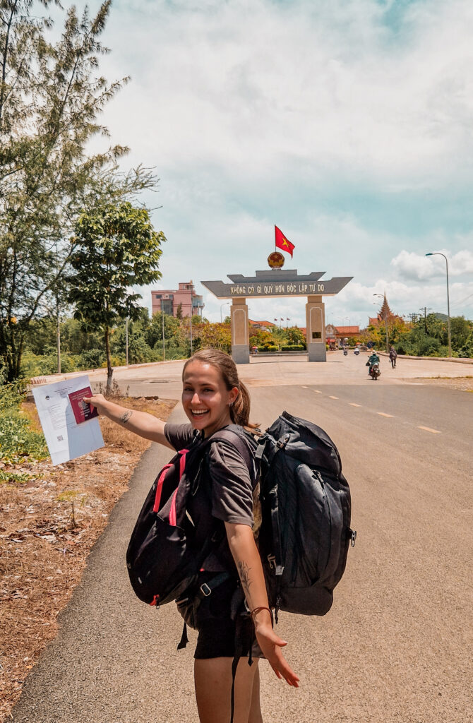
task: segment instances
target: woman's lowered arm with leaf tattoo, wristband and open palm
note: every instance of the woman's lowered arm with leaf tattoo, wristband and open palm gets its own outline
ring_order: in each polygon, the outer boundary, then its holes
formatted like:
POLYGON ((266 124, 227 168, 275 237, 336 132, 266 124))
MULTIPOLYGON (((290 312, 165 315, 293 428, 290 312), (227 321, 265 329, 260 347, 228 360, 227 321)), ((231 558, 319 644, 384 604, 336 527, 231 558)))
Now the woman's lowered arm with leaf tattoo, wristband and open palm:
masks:
MULTIPOLYGON (((253 531, 249 525, 225 523, 231 554, 242 581, 247 606, 251 610, 268 607, 265 577, 257 551, 253 531)), ((284 678, 289 685, 298 688, 299 678, 284 658, 281 648, 287 644, 279 638, 271 625, 270 613, 261 609, 252 615, 258 644, 278 678, 284 678)))

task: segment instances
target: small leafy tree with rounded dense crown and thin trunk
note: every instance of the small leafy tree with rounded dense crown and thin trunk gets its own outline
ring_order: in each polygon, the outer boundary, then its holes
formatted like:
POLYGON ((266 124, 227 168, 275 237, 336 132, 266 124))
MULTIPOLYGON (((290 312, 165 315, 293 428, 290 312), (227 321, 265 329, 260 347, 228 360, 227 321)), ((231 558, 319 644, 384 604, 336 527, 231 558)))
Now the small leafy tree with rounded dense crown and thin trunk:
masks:
POLYGON ((142 316, 140 294, 129 294, 132 284, 145 285, 161 278, 158 270, 162 231, 154 231, 148 210, 129 202, 82 213, 75 226, 75 250, 69 301, 74 318, 87 331, 101 330, 107 357, 107 390, 113 369, 110 330, 124 309, 132 320, 142 316))

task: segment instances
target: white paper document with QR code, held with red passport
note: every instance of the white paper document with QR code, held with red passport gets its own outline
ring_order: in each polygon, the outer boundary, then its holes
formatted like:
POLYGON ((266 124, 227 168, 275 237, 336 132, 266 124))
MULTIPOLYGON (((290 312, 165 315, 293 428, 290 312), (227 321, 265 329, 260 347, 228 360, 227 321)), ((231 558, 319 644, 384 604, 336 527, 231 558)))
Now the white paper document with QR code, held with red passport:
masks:
POLYGON ((103 447, 96 410, 82 403, 90 396, 89 377, 45 384, 33 389, 38 415, 53 464, 61 464, 103 447))

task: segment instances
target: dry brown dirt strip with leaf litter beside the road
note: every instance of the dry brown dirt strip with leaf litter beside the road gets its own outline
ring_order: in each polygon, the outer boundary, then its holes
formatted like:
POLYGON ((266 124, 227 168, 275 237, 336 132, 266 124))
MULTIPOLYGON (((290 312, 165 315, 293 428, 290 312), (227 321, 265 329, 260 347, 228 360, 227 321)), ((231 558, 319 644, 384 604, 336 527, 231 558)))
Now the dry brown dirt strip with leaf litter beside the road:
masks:
MULTIPOLYGON (((174 400, 118 400, 168 419, 174 400)), ((34 404, 25 412, 38 425, 34 404)), ((0 484, 0 723, 20 697, 56 617, 80 581, 93 544, 150 442, 100 419, 105 447, 77 460, 15 466, 23 484, 0 484)), ((2 466, 3 471, 13 469, 2 466)))

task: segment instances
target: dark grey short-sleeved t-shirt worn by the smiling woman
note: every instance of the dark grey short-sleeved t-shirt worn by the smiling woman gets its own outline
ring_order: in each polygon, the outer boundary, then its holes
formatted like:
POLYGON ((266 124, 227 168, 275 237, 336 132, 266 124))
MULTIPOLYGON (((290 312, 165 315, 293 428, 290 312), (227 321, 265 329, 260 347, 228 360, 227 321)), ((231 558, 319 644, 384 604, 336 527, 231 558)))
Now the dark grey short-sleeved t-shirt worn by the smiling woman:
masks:
MULTIPOLYGON (((176 451, 187 449, 195 443, 195 432, 192 424, 166 424, 164 427, 166 440, 176 451)), ((248 442, 250 448, 250 442, 248 442)), ((252 460, 252 450, 249 455, 252 460)), ((190 514, 196 526, 197 546, 213 526, 212 518, 223 522, 253 525, 253 489, 256 486, 255 466, 249 468, 246 461, 231 442, 218 440, 208 448, 207 492, 200 490, 200 496, 192 503, 190 514), (207 496, 205 496, 207 495, 207 496), (210 495, 210 497, 209 497, 210 495), (210 502, 210 504, 209 504, 210 502), (209 514, 210 512, 210 514, 209 514)), ((205 570, 234 571, 234 562, 224 537, 216 553, 210 555, 205 563, 205 570)))

